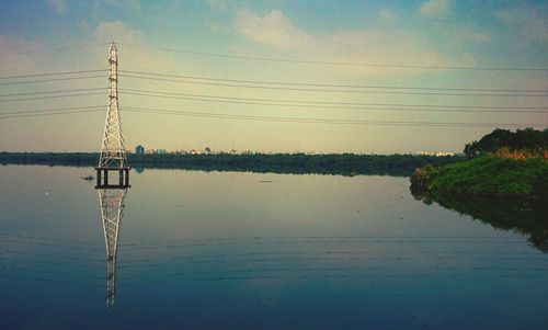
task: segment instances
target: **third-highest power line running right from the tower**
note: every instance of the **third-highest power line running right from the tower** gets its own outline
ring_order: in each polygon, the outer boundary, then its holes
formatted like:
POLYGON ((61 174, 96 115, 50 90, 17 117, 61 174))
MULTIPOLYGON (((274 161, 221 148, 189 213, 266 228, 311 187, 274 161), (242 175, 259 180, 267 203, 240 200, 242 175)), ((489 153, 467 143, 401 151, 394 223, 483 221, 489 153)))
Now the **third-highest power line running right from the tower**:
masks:
POLYGON ((343 90, 343 89, 313 89, 313 88, 290 88, 272 86, 237 84, 212 81, 175 80, 168 78, 140 77, 134 75, 119 75, 121 77, 148 79, 157 81, 181 82, 191 84, 219 86, 229 88, 250 88, 262 90, 284 90, 299 92, 330 92, 330 93, 364 93, 364 94, 406 94, 406 95, 444 95, 444 96, 492 96, 492 98, 548 98, 548 94, 501 94, 501 93, 449 93, 449 92, 409 92, 409 91, 368 91, 368 90, 343 90))

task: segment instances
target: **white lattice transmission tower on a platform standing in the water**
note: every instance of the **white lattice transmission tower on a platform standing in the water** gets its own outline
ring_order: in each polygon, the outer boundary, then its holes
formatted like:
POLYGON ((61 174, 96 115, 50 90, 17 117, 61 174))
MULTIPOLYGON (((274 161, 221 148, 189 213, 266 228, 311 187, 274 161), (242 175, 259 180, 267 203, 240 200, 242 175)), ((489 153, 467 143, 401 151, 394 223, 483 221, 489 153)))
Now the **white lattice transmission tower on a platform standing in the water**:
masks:
POLYGON ((127 187, 129 186, 129 167, 127 166, 126 148, 122 134, 122 124, 118 110, 118 57, 114 42, 109 49, 109 106, 104 125, 103 143, 98 173, 96 187, 127 187), (109 172, 118 172, 118 183, 109 182, 109 172))

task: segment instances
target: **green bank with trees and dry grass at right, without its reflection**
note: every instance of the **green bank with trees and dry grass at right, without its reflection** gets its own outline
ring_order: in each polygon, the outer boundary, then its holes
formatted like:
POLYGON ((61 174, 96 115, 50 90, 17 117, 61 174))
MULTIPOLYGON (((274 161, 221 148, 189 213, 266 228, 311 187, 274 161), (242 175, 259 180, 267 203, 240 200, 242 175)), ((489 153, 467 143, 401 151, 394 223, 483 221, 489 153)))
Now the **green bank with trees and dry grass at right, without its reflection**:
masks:
POLYGON ((468 160, 414 170, 415 193, 537 201, 548 193, 548 129, 494 129, 467 144, 468 160))

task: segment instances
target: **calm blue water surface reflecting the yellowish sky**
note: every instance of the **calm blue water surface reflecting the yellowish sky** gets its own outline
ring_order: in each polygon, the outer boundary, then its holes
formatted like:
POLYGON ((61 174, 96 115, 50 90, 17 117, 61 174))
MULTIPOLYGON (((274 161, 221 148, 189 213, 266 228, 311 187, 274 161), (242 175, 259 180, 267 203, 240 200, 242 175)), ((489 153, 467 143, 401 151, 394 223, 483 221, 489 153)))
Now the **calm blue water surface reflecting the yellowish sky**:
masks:
POLYGON ((548 254, 406 178, 132 173, 109 312, 91 169, 0 167, 2 329, 543 329, 548 254))

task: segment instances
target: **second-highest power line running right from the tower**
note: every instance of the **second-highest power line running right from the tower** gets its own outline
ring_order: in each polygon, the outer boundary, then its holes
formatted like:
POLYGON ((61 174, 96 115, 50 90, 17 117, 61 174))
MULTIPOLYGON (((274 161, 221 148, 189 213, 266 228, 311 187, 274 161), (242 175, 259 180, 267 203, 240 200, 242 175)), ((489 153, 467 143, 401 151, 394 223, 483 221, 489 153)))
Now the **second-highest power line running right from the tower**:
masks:
POLYGON ((198 76, 181 76, 155 73, 133 70, 119 70, 119 72, 128 72, 155 77, 182 78, 206 81, 225 81, 238 83, 255 83, 255 84, 281 84, 281 86, 301 86, 301 87, 326 87, 326 88, 355 88, 355 89, 401 89, 401 90, 433 90, 433 91, 469 91, 469 92, 530 92, 546 93, 548 90, 538 89, 486 89, 486 88, 434 88, 434 87, 400 87, 400 86, 368 86, 368 84, 328 84, 328 83, 310 83, 310 82, 286 82, 286 81, 265 81, 265 80, 242 80, 242 79, 225 79, 215 77, 198 77, 198 76))

